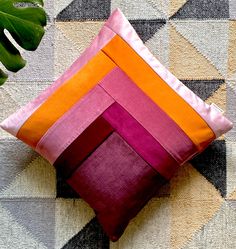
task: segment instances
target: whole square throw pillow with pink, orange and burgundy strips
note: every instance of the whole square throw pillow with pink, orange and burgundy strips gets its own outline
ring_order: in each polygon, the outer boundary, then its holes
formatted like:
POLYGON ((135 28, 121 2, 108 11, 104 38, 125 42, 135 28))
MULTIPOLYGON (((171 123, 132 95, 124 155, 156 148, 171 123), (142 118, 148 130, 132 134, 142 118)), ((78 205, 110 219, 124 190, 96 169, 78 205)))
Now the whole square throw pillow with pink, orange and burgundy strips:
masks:
POLYGON ((172 75, 117 9, 74 64, 1 127, 53 164, 116 241, 232 123, 172 75))

